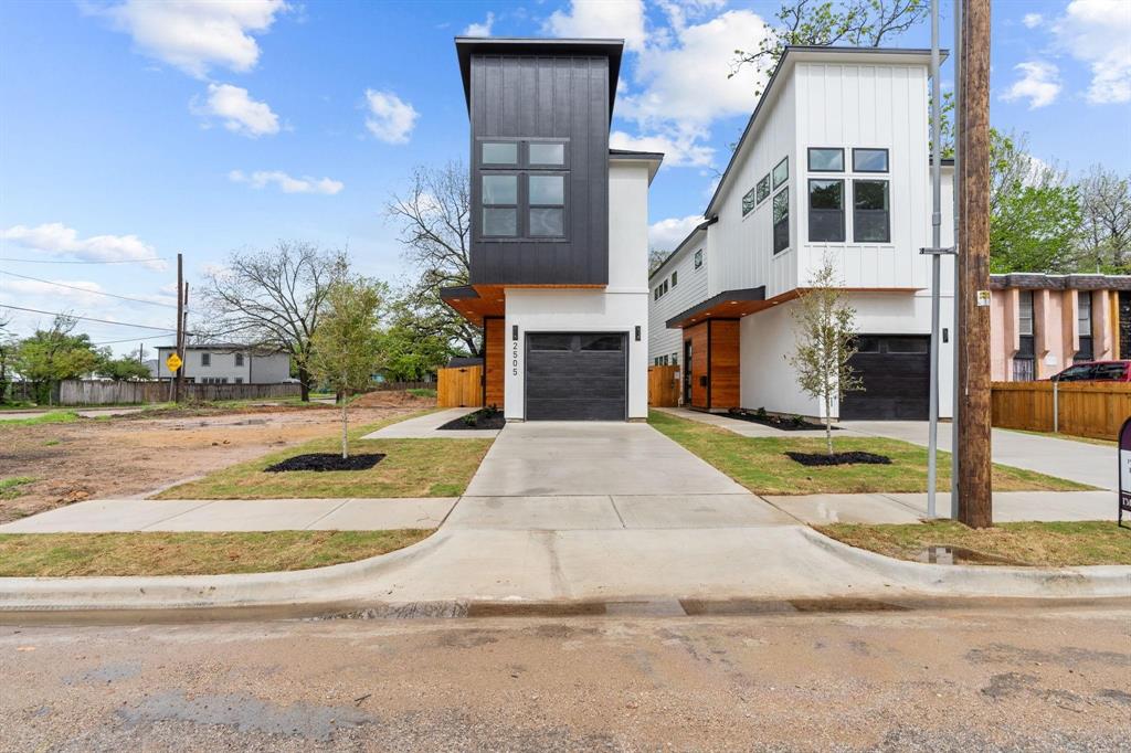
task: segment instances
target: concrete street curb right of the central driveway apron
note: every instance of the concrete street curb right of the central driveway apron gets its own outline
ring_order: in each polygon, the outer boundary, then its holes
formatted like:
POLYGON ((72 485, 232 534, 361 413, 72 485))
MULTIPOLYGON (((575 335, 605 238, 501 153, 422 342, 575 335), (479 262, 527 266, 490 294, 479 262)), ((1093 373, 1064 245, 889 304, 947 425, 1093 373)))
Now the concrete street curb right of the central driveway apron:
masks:
POLYGON ((1131 565, 1007 568, 907 562, 849 546, 805 527, 803 536, 852 564, 931 594, 1017 598, 1131 597, 1131 565))

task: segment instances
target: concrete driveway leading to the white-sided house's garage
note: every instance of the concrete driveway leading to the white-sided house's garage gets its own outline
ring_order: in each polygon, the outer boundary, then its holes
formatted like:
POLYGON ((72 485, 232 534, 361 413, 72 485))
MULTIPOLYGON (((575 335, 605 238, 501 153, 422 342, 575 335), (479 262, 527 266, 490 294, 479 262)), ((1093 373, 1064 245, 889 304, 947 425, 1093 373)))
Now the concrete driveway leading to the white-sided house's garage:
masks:
MULTIPOLYGON (((927 424, 923 421, 843 421, 844 430, 886 436, 926 447, 927 424)), ((1076 440, 993 430, 993 460, 1015 468, 1068 478, 1098 488, 1114 490, 1119 477, 1115 448, 1076 440)), ((950 424, 939 424, 939 449, 950 451, 950 424)))

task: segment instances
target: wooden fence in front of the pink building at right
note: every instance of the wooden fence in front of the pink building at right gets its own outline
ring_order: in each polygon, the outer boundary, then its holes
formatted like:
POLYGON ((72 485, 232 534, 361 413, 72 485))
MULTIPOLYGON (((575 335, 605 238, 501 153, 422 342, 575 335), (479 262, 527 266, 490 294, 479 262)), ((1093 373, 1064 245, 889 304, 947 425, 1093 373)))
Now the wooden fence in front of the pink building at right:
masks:
MULTIPOLYGON (((993 425, 1053 431, 1053 382, 994 382, 993 425)), ((1069 382, 1056 387, 1056 429, 1064 434, 1114 440, 1131 416, 1131 383, 1069 382)))

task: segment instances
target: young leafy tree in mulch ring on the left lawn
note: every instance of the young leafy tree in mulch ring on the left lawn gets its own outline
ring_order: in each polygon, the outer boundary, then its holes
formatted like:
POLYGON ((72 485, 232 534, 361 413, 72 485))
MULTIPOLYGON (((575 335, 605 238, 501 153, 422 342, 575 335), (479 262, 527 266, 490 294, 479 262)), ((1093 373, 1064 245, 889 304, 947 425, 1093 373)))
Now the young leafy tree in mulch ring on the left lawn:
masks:
POLYGON ((342 457, 349 457, 349 396, 365 389, 382 364, 382 286, 339 277, 326 289, 321 321, 311 338, 310 371, 342 396, 342 457))

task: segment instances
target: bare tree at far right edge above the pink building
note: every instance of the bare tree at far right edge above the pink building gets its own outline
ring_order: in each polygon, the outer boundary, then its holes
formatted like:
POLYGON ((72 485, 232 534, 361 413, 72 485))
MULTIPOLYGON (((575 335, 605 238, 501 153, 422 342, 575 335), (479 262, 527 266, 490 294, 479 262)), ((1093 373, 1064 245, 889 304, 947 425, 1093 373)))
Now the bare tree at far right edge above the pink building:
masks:
POLYGON ((1131 178, 1093 165, 1080 182, 1080 205, 1081 269, 1131 271, 1131 178))

